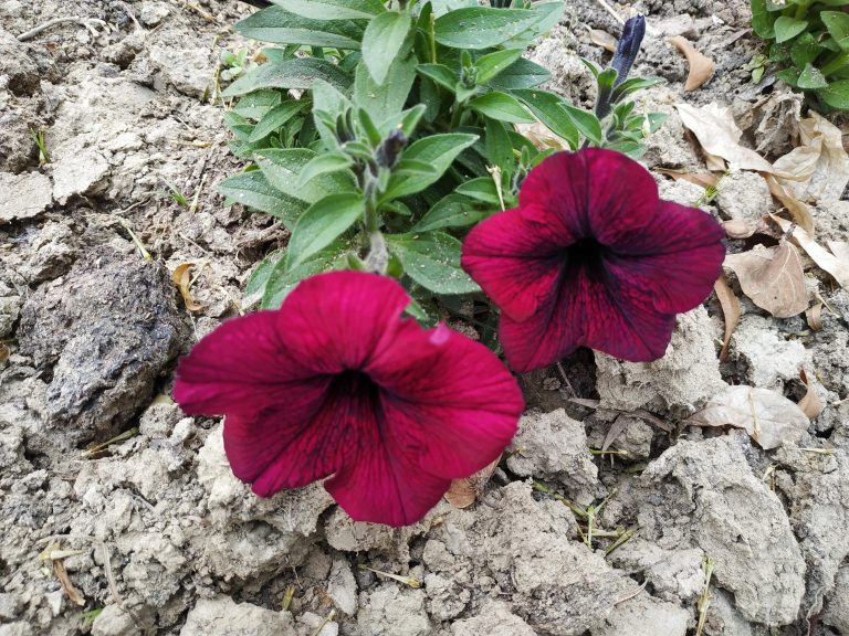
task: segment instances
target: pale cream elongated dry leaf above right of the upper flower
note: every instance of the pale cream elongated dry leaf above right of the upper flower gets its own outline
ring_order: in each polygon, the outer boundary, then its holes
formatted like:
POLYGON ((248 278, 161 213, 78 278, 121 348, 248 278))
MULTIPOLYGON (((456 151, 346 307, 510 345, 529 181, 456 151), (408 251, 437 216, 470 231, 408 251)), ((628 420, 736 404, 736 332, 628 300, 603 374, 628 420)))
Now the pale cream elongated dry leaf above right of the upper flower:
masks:
POLYGON ((681 120, 708 155, 721 157, 740 170, 773 172, 773 165, 751 148, 740 145, 743 131, 737 127, 730 108, 708 104, 701 108, 690 104, 675 104, 681 120))

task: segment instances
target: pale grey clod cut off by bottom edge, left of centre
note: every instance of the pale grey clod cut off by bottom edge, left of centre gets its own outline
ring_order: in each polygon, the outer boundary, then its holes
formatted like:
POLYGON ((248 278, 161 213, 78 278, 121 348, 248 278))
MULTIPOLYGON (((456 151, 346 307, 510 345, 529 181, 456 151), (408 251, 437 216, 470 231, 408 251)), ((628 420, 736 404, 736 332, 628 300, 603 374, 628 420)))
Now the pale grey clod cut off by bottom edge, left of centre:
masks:
POLYGON ((292 615, 229 596, 201 598, 186 617, 180 636, 295 636, 292 615))

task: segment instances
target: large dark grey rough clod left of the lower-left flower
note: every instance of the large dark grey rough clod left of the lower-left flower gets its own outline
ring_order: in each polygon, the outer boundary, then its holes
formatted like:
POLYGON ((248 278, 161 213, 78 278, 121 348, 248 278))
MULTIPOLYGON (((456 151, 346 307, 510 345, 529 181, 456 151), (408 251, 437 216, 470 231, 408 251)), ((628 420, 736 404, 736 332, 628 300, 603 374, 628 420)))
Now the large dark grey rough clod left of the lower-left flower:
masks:
POLYGON ((148 402, 185 337, 168 272, 137 254, 88 253, 21 310, 21 352, 46 368, 50 425, 72 443, 108 435, 148 402))

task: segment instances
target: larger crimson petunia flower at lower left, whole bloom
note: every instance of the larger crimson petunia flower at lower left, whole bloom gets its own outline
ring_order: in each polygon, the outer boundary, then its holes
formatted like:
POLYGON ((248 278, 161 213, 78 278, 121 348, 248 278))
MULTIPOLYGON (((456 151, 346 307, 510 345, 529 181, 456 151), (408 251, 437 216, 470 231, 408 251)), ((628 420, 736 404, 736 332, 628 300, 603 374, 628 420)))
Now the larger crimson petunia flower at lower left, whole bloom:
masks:
POLYGON ((402 318, 394 279, 334 272, 283 306, 229 320, 177 371, 190 414, 224 414, 233 474, 270 497, 329 475, 358 521, 402 526, 499 457, 522 412, 494 353, 446 326, 402 318))

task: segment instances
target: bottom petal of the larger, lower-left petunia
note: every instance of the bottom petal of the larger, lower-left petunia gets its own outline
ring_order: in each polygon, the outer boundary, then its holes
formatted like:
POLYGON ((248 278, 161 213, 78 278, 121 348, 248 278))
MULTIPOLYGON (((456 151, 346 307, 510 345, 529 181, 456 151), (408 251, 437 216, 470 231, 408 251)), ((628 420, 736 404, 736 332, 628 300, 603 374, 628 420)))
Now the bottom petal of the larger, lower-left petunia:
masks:
POLYGON ((451 486, 420 469, 394 443, 361 453, 324 487, 355 521, 408 526, 421 520, 451 486))

